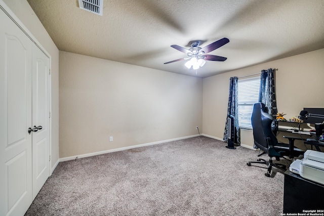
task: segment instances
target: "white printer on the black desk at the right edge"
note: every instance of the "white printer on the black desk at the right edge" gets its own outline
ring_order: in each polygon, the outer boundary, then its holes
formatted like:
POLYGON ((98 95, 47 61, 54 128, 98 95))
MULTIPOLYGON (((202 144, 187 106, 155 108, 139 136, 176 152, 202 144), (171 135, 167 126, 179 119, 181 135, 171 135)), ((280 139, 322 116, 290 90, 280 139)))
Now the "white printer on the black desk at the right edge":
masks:
POLYGON ((289 170, 304 179, 324 185, 324 152, 307 150, 304 158, 293 161, 289 170))

